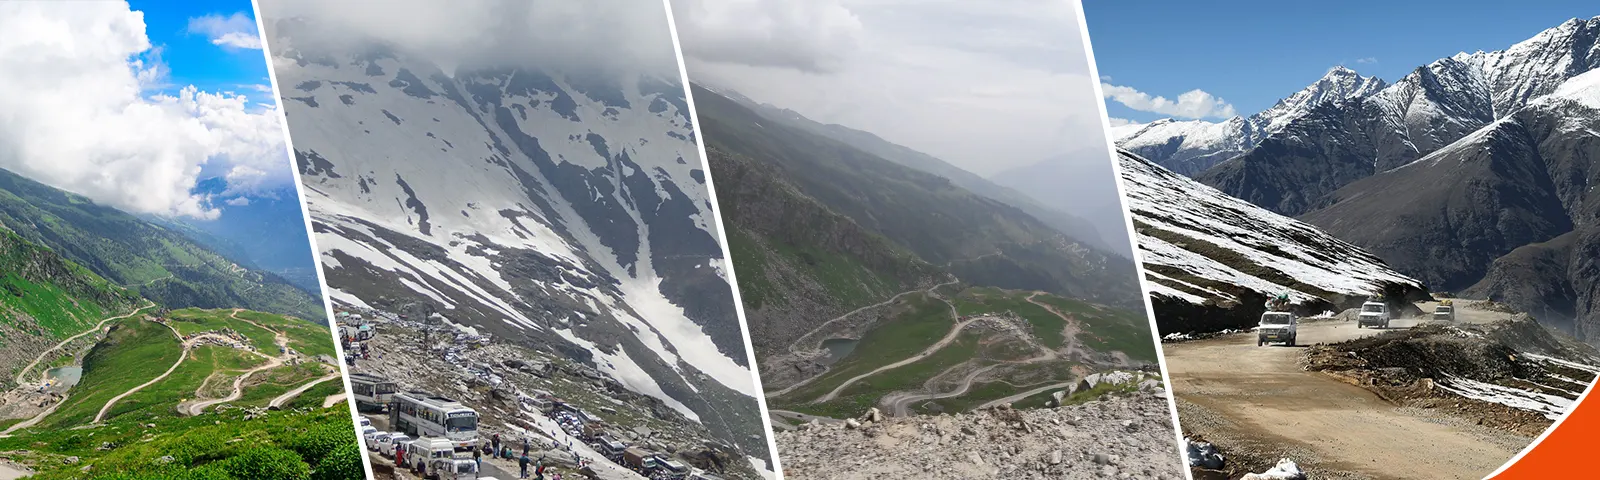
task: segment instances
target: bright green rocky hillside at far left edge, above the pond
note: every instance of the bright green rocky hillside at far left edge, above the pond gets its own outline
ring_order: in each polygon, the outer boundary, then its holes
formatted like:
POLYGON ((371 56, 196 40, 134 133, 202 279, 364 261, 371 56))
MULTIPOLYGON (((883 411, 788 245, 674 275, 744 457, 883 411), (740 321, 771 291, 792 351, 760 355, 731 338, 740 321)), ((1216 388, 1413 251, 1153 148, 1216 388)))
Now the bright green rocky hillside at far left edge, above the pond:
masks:
POLYGON ((32 317, 42 336, 67 338, 101 318, 128 312, 138 296, 0 227, 0 322, 32 317))

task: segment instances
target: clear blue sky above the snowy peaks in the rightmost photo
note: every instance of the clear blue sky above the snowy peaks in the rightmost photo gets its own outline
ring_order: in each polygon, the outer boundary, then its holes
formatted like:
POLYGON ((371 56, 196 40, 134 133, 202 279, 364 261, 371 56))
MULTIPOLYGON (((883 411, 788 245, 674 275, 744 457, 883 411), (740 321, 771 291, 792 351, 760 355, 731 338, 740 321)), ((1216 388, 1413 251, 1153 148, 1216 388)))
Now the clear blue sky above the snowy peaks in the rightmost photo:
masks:
MULTIPOLYGON (((1176 101, 1195 96, 1213 120, 1270 107, 1344 64, 1387 82, 1458 51, 1493 51, 1571 18, 1600 14, 1595 2, 1115 2, 1085 0, 1083 11, 1104 83, 1176 101)), ((1112 118, 1149 122, 1107 99, 1112 118)))

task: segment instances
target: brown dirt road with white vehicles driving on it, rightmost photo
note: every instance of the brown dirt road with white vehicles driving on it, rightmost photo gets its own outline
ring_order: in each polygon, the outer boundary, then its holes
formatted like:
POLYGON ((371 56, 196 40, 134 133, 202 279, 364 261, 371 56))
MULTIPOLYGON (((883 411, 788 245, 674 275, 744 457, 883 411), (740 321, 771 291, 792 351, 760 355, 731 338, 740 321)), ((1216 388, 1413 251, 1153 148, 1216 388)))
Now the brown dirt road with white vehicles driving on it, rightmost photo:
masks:
MULTIPOLYGON (((1434 304, 1419 304, 1432 312, 1434 304)), ((1509 314, 1458 306, 1458 322, 1509 314)), ((1394 320, 1410 328, 1419 320, 1394 320)), ((1301 344, 1378 334, 1355 322, 1301 323, 1301 344)), ((1186 434, 1264 456, 1296 456, 1315 477, 1482 478, 1531 438, 1408 411, 1366 389, 1302 371, 1301 347, 1256 347, 1254 333, 1165 346, 1186 434), (1261 446, 1261 448, 1258 448, 1261 446)), ((1224 451, 1226 453, 1226 451, 1224 451)))

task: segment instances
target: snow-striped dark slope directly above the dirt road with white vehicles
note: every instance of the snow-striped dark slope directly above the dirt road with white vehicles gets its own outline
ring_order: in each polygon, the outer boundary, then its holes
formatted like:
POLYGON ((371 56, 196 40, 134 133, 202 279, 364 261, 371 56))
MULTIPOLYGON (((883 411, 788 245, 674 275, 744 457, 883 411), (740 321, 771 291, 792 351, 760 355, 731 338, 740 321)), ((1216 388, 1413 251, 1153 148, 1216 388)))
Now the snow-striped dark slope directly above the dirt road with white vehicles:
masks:
POLYGON ((1320 309, 1374 291, 1422 290, 1376 256, 1310 224, 1125 149, 1117 157, 1158 320, 1163 302, 1253 307, 1258 298, 1286 293, 1296 304, 1320 309))

